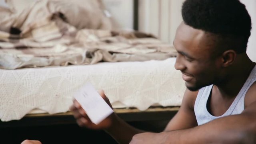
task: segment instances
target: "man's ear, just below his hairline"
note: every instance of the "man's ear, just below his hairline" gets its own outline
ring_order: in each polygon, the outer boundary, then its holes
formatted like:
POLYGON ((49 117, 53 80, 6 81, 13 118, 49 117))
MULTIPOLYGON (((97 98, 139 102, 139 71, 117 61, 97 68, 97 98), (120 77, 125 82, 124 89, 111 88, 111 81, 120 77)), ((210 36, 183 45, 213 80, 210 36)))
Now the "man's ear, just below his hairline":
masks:
POLYGON ((222 66, 227 67, 233 64, 236 59, 236 52, 234 50, 226 50, 222 54, 222 66))

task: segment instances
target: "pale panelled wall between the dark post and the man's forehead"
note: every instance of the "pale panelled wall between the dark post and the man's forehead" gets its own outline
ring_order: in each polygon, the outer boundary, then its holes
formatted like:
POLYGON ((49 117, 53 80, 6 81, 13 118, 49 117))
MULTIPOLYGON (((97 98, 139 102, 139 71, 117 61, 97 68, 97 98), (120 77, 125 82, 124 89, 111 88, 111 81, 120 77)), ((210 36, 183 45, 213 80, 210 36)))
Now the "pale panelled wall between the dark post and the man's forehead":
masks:
POLYGON ((139 0, 139 30, 172 44, 184 0, 139 0))

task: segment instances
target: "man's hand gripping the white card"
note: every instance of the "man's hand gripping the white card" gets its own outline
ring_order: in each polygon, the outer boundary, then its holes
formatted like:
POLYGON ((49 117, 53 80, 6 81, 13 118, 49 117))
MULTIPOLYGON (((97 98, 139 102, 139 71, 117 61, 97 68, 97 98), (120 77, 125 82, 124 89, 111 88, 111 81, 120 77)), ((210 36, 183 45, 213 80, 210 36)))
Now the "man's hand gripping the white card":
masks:
MULTIPOLYGON (((99 94, 106 101, 106 103, 112 108, 112 105, 110 104, 103 90, 100 90, 99 94)), ((78 103, 77 100, 73 101, 73 105, 70 107, 70 110, 73 112, 74 118, 76 118, 76 122, 79 126, 81 127, 83 126, 83 127, 94 129, 94 130, 109 128, 112 125, 114 118, 116 118, 116 115, 113 113, 110 116, 108 116, 105 120, 100 122, 100 124, 96 125, 92 123, 92 121, 87 116, 86 112, 84 111, 84 109, 78 103)))

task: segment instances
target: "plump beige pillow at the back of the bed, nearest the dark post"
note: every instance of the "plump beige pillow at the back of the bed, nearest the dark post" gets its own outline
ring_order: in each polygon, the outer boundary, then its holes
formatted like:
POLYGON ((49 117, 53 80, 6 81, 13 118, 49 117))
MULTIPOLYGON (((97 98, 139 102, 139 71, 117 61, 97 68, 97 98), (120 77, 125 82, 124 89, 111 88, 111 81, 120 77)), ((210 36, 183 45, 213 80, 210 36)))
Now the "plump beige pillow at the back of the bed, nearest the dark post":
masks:
POLYGON ((112 29, 101 0, 51 0, 52 11, 61 12, 78 29, 112 29))

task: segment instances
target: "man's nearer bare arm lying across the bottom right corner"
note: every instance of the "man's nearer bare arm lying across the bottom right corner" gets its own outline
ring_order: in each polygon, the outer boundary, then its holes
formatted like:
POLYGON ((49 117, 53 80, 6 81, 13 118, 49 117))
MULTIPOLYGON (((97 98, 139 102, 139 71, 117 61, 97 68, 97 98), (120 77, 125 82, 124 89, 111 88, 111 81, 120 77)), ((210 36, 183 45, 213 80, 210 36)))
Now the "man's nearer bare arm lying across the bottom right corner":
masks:
MULTIPOLYGON (((225 116, 187 129, 175 128, 174 120, 164 132, 136 134, 131 144, 256 144, 256 84, 247 94, 250 94, 247 95, 250 104, 241 114, 225 116)), ((174 118, 181 120, 177 116, 174 118)))

